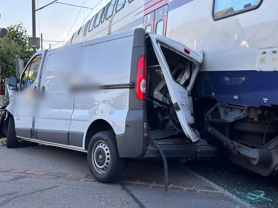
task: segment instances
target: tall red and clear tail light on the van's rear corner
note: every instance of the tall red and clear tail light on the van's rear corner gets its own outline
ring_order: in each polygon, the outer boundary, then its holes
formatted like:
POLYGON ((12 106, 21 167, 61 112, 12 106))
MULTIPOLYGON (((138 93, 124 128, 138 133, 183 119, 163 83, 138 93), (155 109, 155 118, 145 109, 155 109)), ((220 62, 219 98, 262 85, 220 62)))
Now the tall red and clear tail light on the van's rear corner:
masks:
POLYGON ((138 100, 146 100, 147 59, 142 55, 137 63, 136 96, 138 100))

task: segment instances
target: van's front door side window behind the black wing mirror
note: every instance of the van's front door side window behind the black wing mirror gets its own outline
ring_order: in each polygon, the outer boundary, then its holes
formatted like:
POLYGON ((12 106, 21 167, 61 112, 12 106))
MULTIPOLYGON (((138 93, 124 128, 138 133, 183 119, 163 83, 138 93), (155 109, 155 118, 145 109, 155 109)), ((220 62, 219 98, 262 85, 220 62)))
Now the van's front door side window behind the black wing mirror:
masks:
POLYGON ((21 77, 19 86, 20 91, 26 89, 36 81, 39 72, 41 57, 41 55, 36 56, 26 67, 26 70, 23 72, 21 77))

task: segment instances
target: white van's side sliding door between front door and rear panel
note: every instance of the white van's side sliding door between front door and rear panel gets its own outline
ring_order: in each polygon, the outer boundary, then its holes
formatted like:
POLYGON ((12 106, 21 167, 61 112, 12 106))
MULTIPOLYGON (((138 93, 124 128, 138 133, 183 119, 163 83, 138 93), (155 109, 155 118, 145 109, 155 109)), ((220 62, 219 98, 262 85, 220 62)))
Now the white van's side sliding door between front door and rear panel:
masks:
POLYGON ((38 140, 70 145, 74 109, 70 83, 79 70, 80 51, 81 43, 47 53, 40 83, 42 99, 34 123, 38 140))

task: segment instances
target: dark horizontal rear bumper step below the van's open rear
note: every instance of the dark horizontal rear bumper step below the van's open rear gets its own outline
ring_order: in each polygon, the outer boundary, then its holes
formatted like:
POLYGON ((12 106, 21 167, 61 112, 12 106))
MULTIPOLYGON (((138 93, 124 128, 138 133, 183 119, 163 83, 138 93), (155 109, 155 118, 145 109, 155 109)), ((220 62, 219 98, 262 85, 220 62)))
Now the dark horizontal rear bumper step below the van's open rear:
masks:
MULTIPOLYGON (((214 145, 206 143, 201 144, 165 144, 158 143, 165 154, 165 157, 187 157, 199 159, 201 157, 218 157, 221 155, 221 149, 214 145)), ((158 149, 154 145, 147 148, 144 157, 161 157, 158 149)))

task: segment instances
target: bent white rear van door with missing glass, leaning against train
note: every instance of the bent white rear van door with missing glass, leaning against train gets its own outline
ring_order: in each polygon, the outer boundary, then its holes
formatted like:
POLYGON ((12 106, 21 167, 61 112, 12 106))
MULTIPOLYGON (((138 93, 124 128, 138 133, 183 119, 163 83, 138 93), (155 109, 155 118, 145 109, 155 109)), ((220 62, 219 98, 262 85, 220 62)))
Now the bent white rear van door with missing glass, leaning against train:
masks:
POLYGON ((203 61, 203 51, 196 53, 187 48, 183 43, 174 41, 172 39, 148 34, 150 36, 155 55, 157 56, 159 65, 164 75, 173 107, 177 113, 179 122, 183 128, 183 131, 187 138, 190 138, 193 142, 200 139, 200 134, 194 128, 194 114, 193 114, 193 102, 190 91, 192 90, 196 76, 198 74, 200 64, 203 61), (171 51, 171 56, 182 55, 190 61, 190 76, 186 79, 185 84, 181 84, 181 81, 175 80, 171 74, 171 70, 168 66, 167 59, 163 51, 171 51), (186 87, 185 87, 186 86, 186 87))

